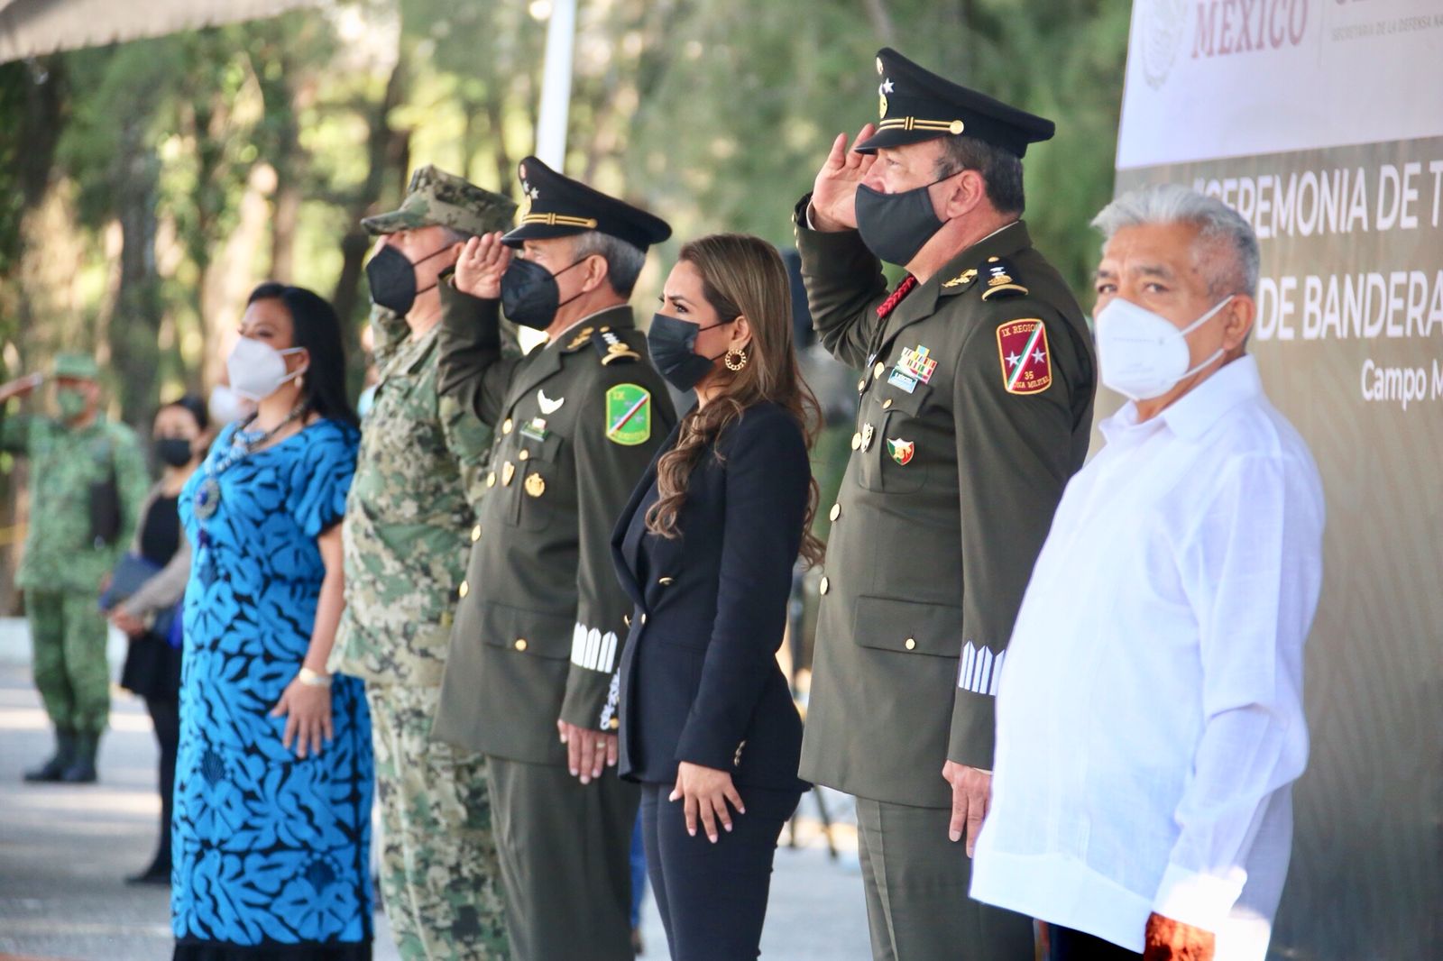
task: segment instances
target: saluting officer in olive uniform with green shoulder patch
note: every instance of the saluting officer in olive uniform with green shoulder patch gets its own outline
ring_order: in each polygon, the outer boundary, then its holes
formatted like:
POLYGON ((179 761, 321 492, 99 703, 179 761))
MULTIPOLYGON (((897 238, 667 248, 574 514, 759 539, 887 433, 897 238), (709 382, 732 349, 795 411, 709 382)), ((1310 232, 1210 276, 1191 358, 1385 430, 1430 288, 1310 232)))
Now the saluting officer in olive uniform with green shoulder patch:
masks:
POLYGON ((488 756, 514 957, 622 961, 639 794, 609 769, 631 610, 610 537, 675 423, 626 299, 671 228, 535 157, 521 188, 521 225, 442 287, 442 394, 496 444, 434 732, 488 756), (502 356, 502 306, 545 346, 502 356))

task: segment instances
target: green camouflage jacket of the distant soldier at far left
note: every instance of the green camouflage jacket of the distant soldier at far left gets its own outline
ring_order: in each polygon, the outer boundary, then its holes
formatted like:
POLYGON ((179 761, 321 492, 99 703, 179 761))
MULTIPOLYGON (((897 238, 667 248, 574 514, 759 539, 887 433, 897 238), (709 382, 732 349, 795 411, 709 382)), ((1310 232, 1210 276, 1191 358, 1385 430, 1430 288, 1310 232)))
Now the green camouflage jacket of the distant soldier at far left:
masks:
POLYGON ((0 424, 0 449, 30 457, 30 511, 25 557, 16 574, 23 590, 100 593, 134 537, 150 476, 140 440, 126 424, 100 417, 71 430, 59 421, 19 414, 0 424), (120 535, 97 545, 91 534, 91 485, 115 470, 120 535))

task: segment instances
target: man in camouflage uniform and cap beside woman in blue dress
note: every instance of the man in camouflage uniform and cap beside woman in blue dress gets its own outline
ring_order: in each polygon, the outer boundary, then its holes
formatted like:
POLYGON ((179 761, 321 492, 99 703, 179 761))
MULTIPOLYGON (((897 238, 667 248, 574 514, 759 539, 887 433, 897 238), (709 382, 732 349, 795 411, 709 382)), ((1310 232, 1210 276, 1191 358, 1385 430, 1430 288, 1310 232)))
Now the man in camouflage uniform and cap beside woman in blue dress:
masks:
POLYGON ((408 961, 509 957, 486 762, 431 740, 456 587, 491 430, 436 390, 436 280, 515 203, 418 169, 401 208, 362 224, 380 372, 343 527, 346 609, 329 667, 367 683, 382 820, 381 892, 408 961))

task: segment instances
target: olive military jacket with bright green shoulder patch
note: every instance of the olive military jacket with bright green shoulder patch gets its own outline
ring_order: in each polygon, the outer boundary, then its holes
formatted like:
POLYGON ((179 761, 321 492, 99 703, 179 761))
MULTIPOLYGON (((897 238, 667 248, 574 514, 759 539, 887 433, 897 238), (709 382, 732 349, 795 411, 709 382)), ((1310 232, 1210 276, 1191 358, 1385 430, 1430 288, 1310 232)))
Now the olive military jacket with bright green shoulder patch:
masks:
POLYGON ((433 733, 566 763, 556 721, 618 727, 625 618, 612 528, 675 411, 620 306, 504 358, 499 304, 442 286, 440 390, 496 429, 433 733))

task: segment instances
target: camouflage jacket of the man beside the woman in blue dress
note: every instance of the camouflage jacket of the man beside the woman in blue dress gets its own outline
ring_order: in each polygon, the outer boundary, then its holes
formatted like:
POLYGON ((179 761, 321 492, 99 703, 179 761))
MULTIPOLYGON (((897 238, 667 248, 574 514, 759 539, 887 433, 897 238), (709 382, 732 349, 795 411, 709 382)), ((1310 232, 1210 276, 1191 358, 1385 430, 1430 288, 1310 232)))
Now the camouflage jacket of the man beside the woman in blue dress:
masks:
POLYGON ((369 683, 440 684, 491 430, 436 391, 436 329, 410 338, 374 309, 381 379, 346 501, 342 615, 330 670, 369 683))

